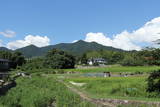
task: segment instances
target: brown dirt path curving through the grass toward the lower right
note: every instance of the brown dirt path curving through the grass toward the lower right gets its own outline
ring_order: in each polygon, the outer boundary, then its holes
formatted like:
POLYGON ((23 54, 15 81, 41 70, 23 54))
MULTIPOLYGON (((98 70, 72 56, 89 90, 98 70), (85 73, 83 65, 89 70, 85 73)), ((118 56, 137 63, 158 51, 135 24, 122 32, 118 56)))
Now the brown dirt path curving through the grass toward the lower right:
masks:
POLYGON ((138 101, 138 100, 121 100, 121 99, 93 99, 87 96, 85 93, 79 91, 74 86, 60 81, 63 83, 68 89, 77 93, 83 100, 91 102, 97 107, 117 107, 118 105, 127 105, 133 107, 160 107, 160 102, 150 102, 150 101, 138 101))

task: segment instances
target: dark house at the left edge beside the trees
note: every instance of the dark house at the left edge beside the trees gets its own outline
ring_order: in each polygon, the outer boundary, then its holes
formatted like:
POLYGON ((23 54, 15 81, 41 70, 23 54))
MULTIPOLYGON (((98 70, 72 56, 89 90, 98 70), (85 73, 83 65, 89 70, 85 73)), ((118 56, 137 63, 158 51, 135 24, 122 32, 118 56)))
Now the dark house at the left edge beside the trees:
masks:
POLYGON ((0 59, 0 72, 8 71, 10 61, 7 59, 0 59))

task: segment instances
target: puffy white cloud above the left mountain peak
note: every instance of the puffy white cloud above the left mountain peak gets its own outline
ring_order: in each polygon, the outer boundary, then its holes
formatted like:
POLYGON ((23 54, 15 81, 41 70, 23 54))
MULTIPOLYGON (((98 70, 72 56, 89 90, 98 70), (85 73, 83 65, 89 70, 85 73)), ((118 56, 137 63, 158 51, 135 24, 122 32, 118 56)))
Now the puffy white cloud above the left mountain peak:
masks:
POLYGON ((28 45, 44 47, 44 46, 50 45, 50 39, 47 36, 28 35, 24 38, 24 40, 16 40, 13 42, 9 42, 7 44, 7 48, 15 50, 15 49, 22 48, 28 45))

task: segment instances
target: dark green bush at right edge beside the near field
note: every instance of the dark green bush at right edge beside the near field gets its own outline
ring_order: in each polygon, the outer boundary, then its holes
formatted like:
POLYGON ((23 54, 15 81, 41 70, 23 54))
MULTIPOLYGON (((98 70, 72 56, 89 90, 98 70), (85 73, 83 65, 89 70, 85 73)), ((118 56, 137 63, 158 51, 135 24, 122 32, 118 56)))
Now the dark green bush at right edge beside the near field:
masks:
POLYGON ((160 97, 160 70, 155 70, 152 73, 150 73, 147 82, 147 91, 156 92, 157 96, 160 97))

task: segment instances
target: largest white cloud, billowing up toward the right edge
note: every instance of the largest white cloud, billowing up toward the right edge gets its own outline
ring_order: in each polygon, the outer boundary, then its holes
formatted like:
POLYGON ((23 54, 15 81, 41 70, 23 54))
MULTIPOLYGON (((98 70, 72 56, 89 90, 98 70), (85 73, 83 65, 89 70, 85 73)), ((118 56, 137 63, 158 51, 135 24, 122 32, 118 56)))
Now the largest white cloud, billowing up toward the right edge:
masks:
POLYGON ((113 38, 103 33, 91 32, 86 35, 85 41, 94 41, 105 46, 124 50, 140 50, 142 44, 151 44, 157 39, 160 39, 160 17, 154 18, 135 31, 123 31, 120 34, 114 35, 113 38))

